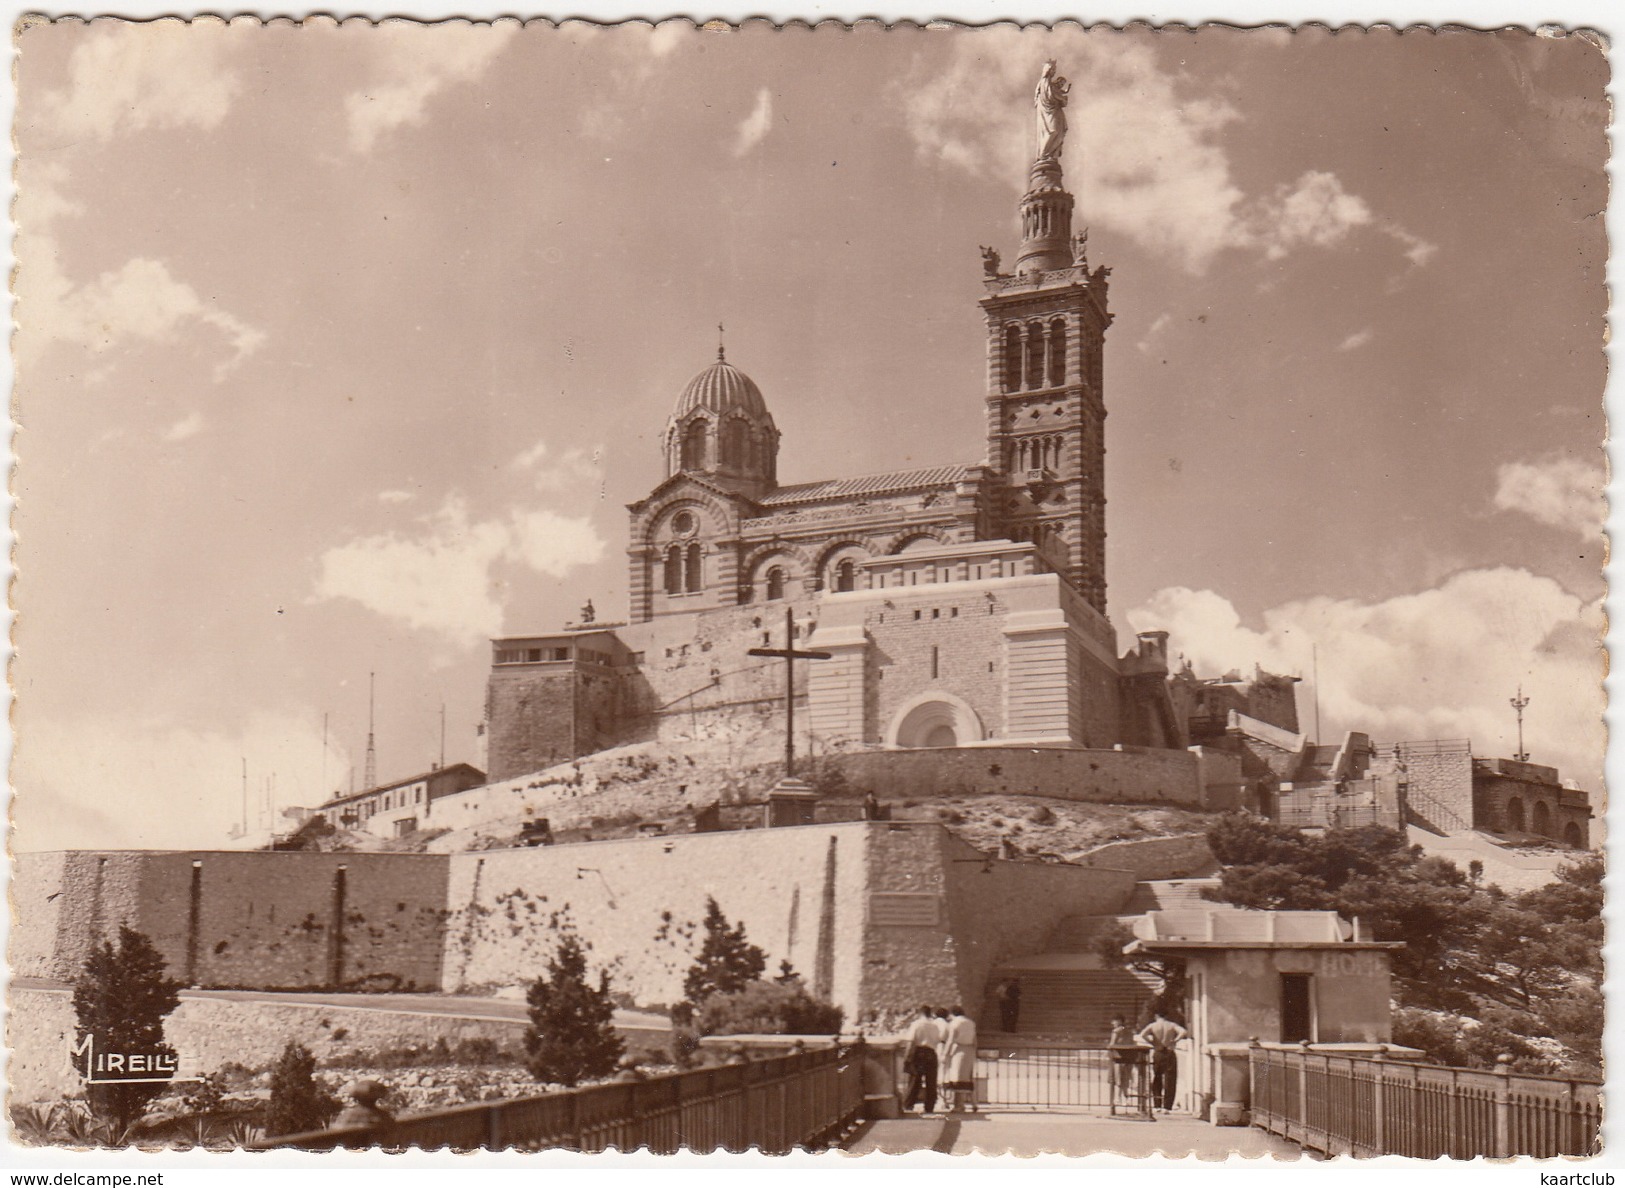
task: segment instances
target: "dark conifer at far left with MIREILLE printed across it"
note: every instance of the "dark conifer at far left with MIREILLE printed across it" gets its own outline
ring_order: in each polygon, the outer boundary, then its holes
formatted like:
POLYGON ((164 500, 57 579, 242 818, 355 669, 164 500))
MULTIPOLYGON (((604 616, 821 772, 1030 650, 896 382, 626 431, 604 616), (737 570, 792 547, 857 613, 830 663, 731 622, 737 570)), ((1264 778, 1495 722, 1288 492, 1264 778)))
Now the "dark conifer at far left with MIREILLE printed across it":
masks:
MULTIPOLYGON (((180 1004, 179 990, 153 943, 119 925, 117 946, 94 946, 73 982, 76 1040, 93 1037, 96 1051, 174 1056, 176 1050, 164 1043, 164 1019, 180 1004)), ((122 1133, 162 1090, 162 1082, 91 1084, 86 1099, 98 1118, 122 1133)))

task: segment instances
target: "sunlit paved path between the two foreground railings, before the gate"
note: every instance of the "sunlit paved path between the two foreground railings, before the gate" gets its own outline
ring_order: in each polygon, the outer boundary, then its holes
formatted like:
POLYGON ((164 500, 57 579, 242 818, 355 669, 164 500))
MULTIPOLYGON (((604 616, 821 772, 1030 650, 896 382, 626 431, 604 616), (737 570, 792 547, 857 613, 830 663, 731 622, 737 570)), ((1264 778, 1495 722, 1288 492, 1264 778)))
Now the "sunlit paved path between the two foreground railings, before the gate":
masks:
POLYGON ((939 1151, 952 1155, 1095 1155, 1129 1159, 1303 1159, 1294 1144, 1250 1126, 1211 1126, 1190 1115, 1159 1115, 1155 1121, 1126 1121, 1082 1110, 982 1110, 876 1121, 864 1128, 848 1154, 939 1151))

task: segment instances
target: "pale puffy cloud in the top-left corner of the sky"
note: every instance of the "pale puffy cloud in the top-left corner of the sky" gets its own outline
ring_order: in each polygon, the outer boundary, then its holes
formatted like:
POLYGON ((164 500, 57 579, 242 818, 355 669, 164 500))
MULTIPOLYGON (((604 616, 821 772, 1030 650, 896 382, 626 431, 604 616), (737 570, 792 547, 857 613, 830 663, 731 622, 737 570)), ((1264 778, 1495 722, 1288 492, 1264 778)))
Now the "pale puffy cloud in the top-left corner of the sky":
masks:
POLYGON ((216 128, 242 89, 226 62, 257 33, 214 18, 98 21, 68 59, 68 85, 41 98, 41 124, 70 143, 216 128))

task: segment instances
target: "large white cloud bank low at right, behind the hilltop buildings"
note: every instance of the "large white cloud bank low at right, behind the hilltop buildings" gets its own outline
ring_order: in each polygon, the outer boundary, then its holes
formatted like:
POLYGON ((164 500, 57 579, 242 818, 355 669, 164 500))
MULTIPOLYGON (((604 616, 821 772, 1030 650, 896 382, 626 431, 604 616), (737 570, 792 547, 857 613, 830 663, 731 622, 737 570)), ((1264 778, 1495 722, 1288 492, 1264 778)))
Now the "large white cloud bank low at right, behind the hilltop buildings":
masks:
MULTIPOLYGON (((1363 730, 1380 741, 1471 738, 1480 754, 1513 754, 1506 705, 1531 699, 1526 738, 1536 762, 1599 787, 1604 631, 1601 603, 1523 569, 1462 570, 1433 590, 1376 603, 1308 598, 1243 626, 1212 590, 1159 590, 1128 613, 1134 631, 1168 631, 1199 674, 1254 663, 1308 678, 1318 647, 1323 736, 1363 730)), ((1300 699, 1308 707, 1308 694, 1300 699)), ((1310 713, 1302 725, 1313 731, 1310 713)))

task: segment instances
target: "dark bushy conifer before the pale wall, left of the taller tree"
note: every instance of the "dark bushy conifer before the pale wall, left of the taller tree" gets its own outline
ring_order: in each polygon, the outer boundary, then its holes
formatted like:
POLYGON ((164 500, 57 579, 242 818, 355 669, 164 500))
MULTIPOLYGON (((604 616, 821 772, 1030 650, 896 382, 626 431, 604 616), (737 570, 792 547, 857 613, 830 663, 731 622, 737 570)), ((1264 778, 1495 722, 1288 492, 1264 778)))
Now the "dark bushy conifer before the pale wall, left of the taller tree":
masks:
POLYGON ((559 951, 548 959, 546 977, 531 983, 525 1001, 530 1003, 525 1051, 531 1076, 574 1087, 614 1071, 626 1048, 614 1032, 609 973, 598 975, 596 988, 588 983, 587 952, 575 936, 559 941, 559 951))

